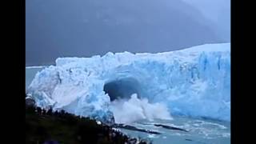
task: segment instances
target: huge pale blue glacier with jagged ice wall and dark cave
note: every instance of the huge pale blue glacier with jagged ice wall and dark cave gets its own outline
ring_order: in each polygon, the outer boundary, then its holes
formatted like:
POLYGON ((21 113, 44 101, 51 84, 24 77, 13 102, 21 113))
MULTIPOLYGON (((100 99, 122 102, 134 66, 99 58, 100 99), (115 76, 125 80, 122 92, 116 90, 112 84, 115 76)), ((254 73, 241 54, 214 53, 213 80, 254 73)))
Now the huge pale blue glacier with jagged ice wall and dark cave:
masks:
POLYGON ((111 103, 129 101, 133 94, 166 106, 162 110, 172 115, 230 121, 230 43, 157 54, 57 58, 55 66, 35 75, 27 92, 38 106, 102 122, 114 121, 111 103))

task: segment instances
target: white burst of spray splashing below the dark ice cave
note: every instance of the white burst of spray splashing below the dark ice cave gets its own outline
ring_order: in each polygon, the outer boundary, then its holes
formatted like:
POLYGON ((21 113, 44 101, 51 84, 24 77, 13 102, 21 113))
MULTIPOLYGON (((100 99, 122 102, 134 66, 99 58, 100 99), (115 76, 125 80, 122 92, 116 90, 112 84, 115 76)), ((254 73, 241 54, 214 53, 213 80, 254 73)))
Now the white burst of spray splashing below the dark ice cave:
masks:
POLYGON ((172 119, 165 105, 150 103, 146 98, 139 99, 137 94, 132 94, 129 100, 114 100, 111 102, 110 110, 114 113, 116 123, 132 123, 142 119, 172 119))

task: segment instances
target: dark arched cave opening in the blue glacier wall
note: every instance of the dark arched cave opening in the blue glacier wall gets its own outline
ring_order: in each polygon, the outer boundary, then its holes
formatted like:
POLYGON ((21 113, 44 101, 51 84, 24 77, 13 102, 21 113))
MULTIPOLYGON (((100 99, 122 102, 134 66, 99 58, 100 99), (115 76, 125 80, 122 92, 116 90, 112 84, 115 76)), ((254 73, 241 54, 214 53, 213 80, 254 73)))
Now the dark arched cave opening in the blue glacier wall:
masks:
POLYGON ((140 83, 135 78, 118 78, 104 85, 104 91, 110 96, 110 101, 117 99, 130 99, 132 94, 140 98, 142 94, 140 83))

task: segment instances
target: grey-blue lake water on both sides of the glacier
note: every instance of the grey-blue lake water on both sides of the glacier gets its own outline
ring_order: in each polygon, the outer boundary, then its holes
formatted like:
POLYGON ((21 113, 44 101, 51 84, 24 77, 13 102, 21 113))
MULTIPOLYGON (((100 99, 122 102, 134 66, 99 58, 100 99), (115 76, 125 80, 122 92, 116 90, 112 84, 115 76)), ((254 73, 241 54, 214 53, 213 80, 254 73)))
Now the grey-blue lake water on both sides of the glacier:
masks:
MULTIPOLYGON (((26 68, 26 89, 32 82, 35 74, 42 67, 26 68)), ((174 143, 174 144, 229 144, 230 143, 230 122, 220 122, 210 119, 188 118, 173 116, 173 120, 154 120, 154 122, 141 121, 131 125, 137 128, 158 131, 161 134, 146 134, 134 130, 119 129, 123 133, 133 137, 150 138, 153 143, 174 143), (188 130, 169 130, 154 126, 162 124, 188 130)))

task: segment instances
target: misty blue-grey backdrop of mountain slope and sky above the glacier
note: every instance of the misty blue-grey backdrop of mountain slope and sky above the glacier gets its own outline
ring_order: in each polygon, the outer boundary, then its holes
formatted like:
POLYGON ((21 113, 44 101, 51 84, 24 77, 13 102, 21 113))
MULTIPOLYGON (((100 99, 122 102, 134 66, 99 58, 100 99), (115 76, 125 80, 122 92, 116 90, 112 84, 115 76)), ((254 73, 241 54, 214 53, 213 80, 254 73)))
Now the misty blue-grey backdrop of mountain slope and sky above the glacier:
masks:
POLYGON ((230 2, 186 1, 26 0, 26 66, 108 51, 154 53, 230 42, 230 2))

